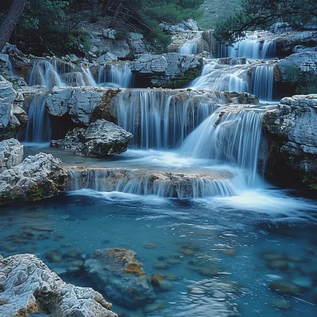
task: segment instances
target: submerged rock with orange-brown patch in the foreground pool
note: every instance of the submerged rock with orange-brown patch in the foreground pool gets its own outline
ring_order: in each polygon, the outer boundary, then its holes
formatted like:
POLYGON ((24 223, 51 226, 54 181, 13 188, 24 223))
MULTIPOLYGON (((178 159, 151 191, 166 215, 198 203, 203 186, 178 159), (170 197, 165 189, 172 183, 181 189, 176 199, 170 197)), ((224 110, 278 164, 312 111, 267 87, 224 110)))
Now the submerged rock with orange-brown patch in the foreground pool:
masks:
POLYGON ((86 260, 85 268, 98 287, 120 305, 145 306, 156 298, 147 274, 132 250, 96 250, 86 260))

